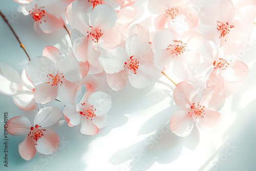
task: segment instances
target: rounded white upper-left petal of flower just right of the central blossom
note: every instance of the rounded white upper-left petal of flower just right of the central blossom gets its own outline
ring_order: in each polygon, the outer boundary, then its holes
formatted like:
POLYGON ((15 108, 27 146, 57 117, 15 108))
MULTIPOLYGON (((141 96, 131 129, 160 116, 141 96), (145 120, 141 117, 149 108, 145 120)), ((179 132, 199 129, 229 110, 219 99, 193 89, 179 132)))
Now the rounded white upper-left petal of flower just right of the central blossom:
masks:
POLYGON ((160 30, 155 34, 153 41, 157 50, 166 49, 173 45, 173 34, 169 30, 160 30))

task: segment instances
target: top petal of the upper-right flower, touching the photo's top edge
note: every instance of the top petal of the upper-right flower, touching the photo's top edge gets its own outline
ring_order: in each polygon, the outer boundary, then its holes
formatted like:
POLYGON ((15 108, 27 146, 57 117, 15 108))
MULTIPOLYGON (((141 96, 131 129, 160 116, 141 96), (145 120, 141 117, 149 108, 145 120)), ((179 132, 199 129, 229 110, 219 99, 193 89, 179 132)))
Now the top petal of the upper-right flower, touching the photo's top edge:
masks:
POLYGON ((231 0, 221 0, 220 10, 225 22, 230 23, 234 18, 234 5, 231 0))

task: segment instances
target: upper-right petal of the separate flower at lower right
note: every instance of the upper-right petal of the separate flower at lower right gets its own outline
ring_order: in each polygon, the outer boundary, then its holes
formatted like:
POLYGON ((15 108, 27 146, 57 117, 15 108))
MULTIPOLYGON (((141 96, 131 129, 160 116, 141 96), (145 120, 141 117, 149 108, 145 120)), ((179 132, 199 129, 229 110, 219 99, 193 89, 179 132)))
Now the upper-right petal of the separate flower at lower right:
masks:
POLYGON ((219 111, 225 104, 225 92, 219 86, 208 87, 203 90, 199 104, 205 108, 219 111))

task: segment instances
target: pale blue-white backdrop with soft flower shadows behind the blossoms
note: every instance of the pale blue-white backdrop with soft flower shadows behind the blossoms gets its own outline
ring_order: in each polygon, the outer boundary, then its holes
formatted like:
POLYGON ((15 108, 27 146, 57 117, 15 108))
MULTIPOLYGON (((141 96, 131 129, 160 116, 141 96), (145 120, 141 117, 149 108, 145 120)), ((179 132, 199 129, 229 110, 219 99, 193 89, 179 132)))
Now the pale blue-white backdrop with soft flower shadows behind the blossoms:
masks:
MULTIPOLYGON (((137 1, 133 7, 145 5, 137 1)), ((18 14, 18 4, 2 2, 1 11, 9 17, 10 24, 23 42, 31 58, 41 55, 46 46, 66 48, 70 39, 65 29, 53 34, 38 35, 33 30, 31 16, 18 14)), ((137 11, 138 17, 144 11, 137 11)), ((146 13, 146 11, 145 11, 146 13)), ((136 18, 137 23, 140 22, 136 18)), ((147 17, 151 20, 151 17, 147 17)), ((254 26, 254 35, 256 32, 254 26)), ((255 37, 255 36, 254 36, 255 37)), ((95 136, 80 133, 80 125, 69 127, 67 123, 53 127, 62 143, 58 151, 49 156, 36 155, 26 161, 18 153, 18 144, 24 136, 9 135, 9 164, 4 167, 4 112, 9 119, 23 115, 33 121, 37 108, 32 111, 19 109, 11 97, 0 95, 0 154, 1 170, 255 170, 256 162, 256 48, 247 46, 242 58, 250 69, 241 81, 225 82, 226 103, 219 111, 223 127, 217 133, 205 133, 194 127, 184 138, 169 130, 169 120, 179 107, 172 97, 174 85, 161 73, 144 89, 134 89, 127 84, 114 92, 108 88, 104 74, 99 90, 108 93, 113 100, 108 114, 109 124, 95 136), (161 78, 160 78, 161 77, 161 78), (159 79, 160 78, 160 79, 159 79), (158 80, 159 79, 159 80, 158 80)), ((62 50, 62 49, 60 49, 62 50)), ((14 35, 0 18, 0 61, 19 73, 26 67, 28 58, 19 47, 14 35)), ((167 72, 172 76, 172 71, 167 72)), ((174 76, 172 76, 177 82, 174 76)), ((1 84, 1 83, 0 83, 1 84)), ((202 86, 194 83, 193 86, 202 86)), ((54 101, 43 105, 63 105, 54 101)), ((41 105, 38 105, 41 108, 41 105)), ((62 118, 63 119, 63 118, 62 118)))

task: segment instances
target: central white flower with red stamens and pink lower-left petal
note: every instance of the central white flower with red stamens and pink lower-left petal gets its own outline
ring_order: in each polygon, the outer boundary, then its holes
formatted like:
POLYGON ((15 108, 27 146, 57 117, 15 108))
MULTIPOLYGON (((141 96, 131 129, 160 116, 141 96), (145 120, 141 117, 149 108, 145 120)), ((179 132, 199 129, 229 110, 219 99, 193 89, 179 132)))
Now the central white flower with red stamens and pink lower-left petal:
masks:
POLYGON ((160 73, 154 66, 154 54, 146 39, 134 34, 127 38, 125 49, 116 47, 102 52, 99 57, 107 73, 106 80, 114 91, 121 90, 128 78, 133 87, 144 88, 153 75, 160 73))

